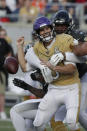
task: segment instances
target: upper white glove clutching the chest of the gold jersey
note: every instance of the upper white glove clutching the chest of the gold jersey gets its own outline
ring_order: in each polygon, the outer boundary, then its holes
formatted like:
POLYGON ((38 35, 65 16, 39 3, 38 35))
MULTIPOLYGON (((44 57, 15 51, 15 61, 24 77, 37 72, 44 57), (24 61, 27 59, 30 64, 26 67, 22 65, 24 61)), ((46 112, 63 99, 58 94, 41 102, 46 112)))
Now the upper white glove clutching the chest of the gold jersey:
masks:
POLYGON ((61 52, 58 52, 50 58, 49 62, 53 65, 56 66, 59 62, 64 60, 64 55, 61 52))

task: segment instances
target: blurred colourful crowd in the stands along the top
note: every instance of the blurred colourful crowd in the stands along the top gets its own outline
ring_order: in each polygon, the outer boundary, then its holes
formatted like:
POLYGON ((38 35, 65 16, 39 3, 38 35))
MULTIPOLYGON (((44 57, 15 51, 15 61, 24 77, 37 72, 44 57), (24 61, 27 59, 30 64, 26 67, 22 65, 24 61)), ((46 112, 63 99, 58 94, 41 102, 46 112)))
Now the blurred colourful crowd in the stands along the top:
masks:
POLYGON ((0 21, 30 23, 42 15, 51 18, 60 9, 68 10, 71 17, 76 19, 75 3, 85 2, 87 0, 0 0, 0 21))

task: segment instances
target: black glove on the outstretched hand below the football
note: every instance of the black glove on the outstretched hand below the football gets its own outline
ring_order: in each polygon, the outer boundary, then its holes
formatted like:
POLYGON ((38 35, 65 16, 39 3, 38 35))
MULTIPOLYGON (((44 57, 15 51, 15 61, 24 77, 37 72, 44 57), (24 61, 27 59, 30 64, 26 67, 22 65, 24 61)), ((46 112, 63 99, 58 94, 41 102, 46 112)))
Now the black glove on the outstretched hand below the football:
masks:
POLYGON ((15 86, 18 86, 18 87, 24 89, 24 90, 28 90, 28 88, 29 88, 29 85, 27 83, 25 83, 24 81, 17 79, 17 78, 14 78, 13 84, 15 86))

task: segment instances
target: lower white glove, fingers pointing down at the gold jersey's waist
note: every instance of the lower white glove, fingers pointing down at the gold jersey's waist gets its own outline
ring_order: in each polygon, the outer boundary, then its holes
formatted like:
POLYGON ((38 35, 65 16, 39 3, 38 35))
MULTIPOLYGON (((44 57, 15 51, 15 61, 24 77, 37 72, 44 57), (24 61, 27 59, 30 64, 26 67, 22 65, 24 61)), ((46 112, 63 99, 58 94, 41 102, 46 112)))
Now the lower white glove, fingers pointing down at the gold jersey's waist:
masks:
POLYGON ((53 81, 51 70, 48 67, 45 67, 44 65, 41 65, 40 70, 44 77, 45 82, 51 83, 53 81))

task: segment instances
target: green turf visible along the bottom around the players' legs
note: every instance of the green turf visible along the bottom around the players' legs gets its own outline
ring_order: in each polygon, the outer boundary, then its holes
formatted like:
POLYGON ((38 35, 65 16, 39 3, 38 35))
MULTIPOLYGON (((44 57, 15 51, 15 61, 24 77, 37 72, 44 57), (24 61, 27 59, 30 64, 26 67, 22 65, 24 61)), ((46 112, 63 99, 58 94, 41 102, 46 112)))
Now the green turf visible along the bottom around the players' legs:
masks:
MULTIPOLYGON (((7 114, 8 118, 10 118, 9 110, 10 110, 10 108, 6 107, 6 114, 7 114)), ((10 119, 8 119, 7 121, 0 120, 0 131, 15 131, 10 119)), ((47 126, 47 131, 52 131, 52 129, 49 128, 49 126, 47 126)), ((85 130, 81 127, 81 131, 85 131, 85 130)))

